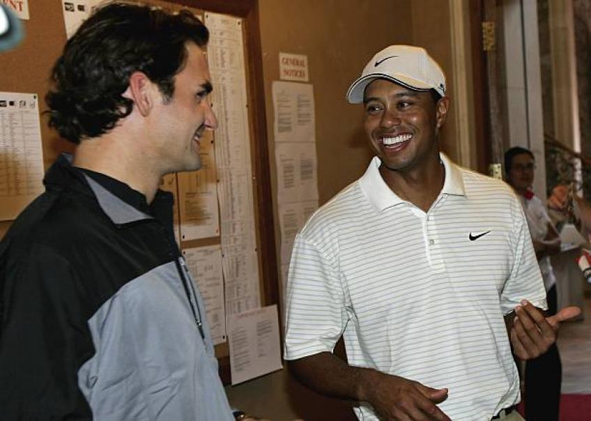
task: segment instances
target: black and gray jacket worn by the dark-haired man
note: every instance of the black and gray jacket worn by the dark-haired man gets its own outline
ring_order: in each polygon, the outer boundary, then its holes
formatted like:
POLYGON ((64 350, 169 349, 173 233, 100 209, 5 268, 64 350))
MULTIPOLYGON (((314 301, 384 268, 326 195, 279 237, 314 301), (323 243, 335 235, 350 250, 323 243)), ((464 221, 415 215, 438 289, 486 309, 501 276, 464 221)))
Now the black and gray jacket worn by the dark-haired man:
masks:
POLYGON ((0 243, 0 418, 233 420, 171 195, 63 156, 44 183, 0 243))

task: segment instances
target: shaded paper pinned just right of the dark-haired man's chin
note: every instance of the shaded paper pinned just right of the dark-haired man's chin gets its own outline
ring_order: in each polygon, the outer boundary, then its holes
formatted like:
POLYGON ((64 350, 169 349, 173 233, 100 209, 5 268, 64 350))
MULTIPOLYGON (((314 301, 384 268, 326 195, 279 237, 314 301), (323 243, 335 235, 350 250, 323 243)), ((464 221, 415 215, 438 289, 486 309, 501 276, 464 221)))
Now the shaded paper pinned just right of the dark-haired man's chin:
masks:
POLYGON ((178 173, 178 205, 183 241, 220 235, 217 176, 211 132, 201 139, 201 169, 178 173))

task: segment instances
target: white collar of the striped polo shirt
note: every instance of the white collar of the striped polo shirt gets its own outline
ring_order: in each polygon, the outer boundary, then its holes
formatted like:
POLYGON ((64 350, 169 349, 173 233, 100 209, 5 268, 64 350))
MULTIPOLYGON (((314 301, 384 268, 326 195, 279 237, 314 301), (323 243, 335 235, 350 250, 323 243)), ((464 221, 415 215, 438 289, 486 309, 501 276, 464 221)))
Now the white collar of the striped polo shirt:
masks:
MULTIPOLYGON (((440 153, 439 158, 445 168, 445 182, 439 195, 450 194, 467 197, 461 169, 450 158, 447 158, 444 153, 440 153)), ((392 192, 390 187, 385 183, 380 174, 380 164, 380 158, 375 156, 369 163, 365 174, 359 179, 359 183, 362 192, 364 192, 369 202, 379 212, 383 212, 391 206, 404 204, 406 201, 392 192)))

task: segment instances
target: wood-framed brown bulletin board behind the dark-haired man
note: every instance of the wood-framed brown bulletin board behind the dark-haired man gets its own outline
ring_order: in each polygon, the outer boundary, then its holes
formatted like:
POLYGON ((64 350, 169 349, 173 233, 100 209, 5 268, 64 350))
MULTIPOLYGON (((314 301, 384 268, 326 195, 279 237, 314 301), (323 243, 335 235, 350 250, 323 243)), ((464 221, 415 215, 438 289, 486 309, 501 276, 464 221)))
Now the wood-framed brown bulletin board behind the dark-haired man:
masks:
MULTIPOLYGON (((213 109, 220 127, 201 142, 204 168, 195 173, 171 174, 161 185, 162 189, 176 195, 175 225, 181 251, 189 266, 196 262, 199 270, 209 268, 215 272, 214 266, 220 265, 221 257, 224 278, 228 278, 224 280, 224 291, 213 287, 203 295, 206 303, 208 299, 212 300, 209 309, 220 304, 216 294, 224 294, 222 319, 224 307, 226 312, 236 313, 253 306, 278 305, 273 199, 256 0, 149 0, 146 3, 171 10, 188 8, 203 18, 211 33, 207 54, 214 84, 213 109), (231 40, 222 42, 216 37, 231 40), (237 48, 238 41, 241 45, 237 48), (233 46, 228 47, 228 43, 233 46), (240 82, 238 85, 237 81, 240 82), (240 284, 246 272, 254 280, 250 286, 240 284), (235 300, 228 298, 232 294, 236 295, 235 300)), ((40 98, 38 107, 42 115, 40 132, 45 169, 59 153, 72 153, 75 148, 49 129, 43 114, 47 110, 43 98, 49 89, 49 72, 66 43, 61 8, 62 3, 57 0, 29 1, 30 19, 22 21, 26 31, 24 42, 17 49, 0 55, 0 68, 3 69, 0 91, 35 93, 40 98)), ((6 233, 10 224, 11 221, 0 222, 0 236, 6 233)), ((203 275, 201 272, 197 277, 203 275)), ((214 314, 213 321, 208 319, 214 337, 216 322, 220 322, 218 316, 220 314, 214 314)), ((215 353, 220 362, 222 381, 229 383, 229 347, 223 329, 220 332, 215 353)))

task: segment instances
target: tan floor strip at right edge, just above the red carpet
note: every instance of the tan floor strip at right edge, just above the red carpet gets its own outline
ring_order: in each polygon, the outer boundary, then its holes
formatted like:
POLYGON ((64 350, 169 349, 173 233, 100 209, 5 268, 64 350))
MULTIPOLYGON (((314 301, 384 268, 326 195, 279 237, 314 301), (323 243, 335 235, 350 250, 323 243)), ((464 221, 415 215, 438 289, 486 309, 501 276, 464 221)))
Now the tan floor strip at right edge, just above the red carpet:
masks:
POLYGON ((560 326, 562 393, 591 393, 591 298, 584 301, 585 319, 560 326))

